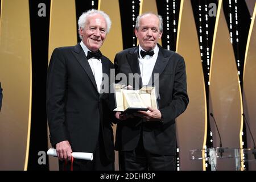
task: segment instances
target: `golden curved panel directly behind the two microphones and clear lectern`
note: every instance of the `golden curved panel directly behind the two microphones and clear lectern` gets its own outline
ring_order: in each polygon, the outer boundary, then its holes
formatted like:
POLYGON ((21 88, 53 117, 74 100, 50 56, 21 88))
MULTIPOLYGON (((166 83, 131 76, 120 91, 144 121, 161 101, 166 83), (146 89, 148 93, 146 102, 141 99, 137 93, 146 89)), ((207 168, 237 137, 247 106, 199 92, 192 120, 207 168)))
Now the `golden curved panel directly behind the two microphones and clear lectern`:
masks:
MULTIPOLYGON (((220 130, 222 147, 242 148, 241 88, 222 0, 218 2, 209 80, 209 110, 220 130)), ((213 132, 213 146, 220 146, 212 118, 210 126, 213 132)), ((234 170, 235 166, 233 159, 217 160, 217 170, 234 170)))

